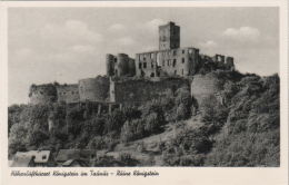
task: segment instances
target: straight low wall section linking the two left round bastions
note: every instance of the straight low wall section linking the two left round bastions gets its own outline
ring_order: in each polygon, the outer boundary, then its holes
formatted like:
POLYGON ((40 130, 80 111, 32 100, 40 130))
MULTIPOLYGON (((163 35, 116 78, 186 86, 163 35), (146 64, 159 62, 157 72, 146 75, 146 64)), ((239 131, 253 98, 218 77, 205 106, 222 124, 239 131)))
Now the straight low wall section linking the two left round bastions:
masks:
POLYGON ((78 85, 59 85, 57 86, 58 103, 77 103, 79 101, 78 85))

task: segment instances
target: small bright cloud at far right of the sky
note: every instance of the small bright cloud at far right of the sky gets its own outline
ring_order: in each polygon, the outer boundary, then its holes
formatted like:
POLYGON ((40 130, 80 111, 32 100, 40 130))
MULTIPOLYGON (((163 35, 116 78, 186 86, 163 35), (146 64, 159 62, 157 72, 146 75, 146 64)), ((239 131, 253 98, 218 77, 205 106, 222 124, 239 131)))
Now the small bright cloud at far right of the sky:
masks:
POLYGON ((240 29, 228 28, 222 32, 222 36, 239 41, 256 41, 260 36, 260 31, 251 27, 241 27, 240 29))

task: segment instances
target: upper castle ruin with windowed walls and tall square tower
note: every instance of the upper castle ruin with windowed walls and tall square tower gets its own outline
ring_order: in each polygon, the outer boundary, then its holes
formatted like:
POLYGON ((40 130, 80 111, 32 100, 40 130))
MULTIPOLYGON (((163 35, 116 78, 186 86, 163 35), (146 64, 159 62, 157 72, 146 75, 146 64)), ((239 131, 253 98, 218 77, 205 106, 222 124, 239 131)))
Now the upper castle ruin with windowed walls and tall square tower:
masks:
POLYGON ((107 55, 108 76, 138 76, 157 78, 161 72, 170 76, 193 76, 200 69, 216 70, 235 68, 233 58, 216 55, 200 55, 199 49, 180 48, 180 27, 175 22, 159 27, 159 50, 136 53, 136 60, 128 55, 107 55))

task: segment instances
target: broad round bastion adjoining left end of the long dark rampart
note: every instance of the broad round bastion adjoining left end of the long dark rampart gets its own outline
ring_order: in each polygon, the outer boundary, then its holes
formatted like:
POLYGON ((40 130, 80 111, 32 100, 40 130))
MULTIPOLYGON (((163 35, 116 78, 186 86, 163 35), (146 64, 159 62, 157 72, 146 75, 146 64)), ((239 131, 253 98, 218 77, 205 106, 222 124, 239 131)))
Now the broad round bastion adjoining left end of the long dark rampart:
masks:
POLYGON ((109 100, 109 78, 97 77, 79 80, 80 100, 108 101, 109 100))

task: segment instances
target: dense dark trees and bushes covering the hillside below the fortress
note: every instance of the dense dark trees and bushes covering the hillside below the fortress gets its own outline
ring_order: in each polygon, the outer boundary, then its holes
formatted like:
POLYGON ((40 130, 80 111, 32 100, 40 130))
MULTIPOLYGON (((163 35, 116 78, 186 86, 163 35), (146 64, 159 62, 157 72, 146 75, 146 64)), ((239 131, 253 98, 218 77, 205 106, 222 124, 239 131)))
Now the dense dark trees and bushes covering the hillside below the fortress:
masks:
MULTIPOLYGON (((107 149, 119 158, 97 156, 93 166, 121 162, 128 166, 279 166, 280 79, 238 71, 215 71, 225 80, 220 91, 198 104, 182 87, 138 105, 126 105, 111 114, 97 114, 97 105, 66 103, 12 105, 8 108, 9 158, 32 149, 107 149), (48 121, 57 125, 48 129, 48 121), (157 152, 139 162, 121 147, 172 130, 169 139, 156 142, 157 152), (117 148, 117 149, 116 149, 117 148)), ((146 144, 143 144, 146 145, 146 144)))

